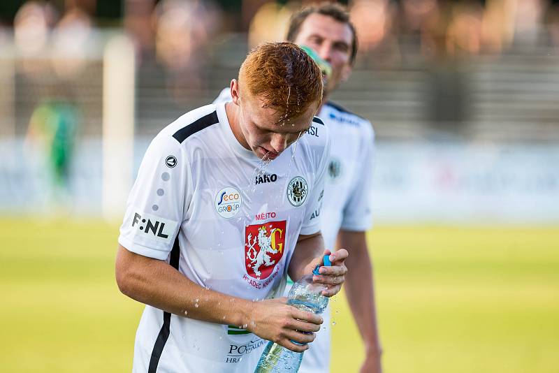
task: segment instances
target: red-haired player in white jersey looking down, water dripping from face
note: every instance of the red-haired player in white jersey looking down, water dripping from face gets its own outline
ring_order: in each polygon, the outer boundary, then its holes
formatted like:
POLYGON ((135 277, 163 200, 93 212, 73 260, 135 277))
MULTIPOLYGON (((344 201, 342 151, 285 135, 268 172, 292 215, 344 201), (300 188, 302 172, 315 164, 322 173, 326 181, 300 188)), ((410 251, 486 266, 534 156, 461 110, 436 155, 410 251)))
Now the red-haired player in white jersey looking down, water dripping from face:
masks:
MULTIPOLYGON (((268 298, 330 254, 314 219, 329 161, 314 118, 322 89, 300 47, 261 45, 231 81, 233 101, 154 138, 118 240, 117 284, 146 304, 133 372, 252 372, 266 339, 308 348, 293 342, 312 342, 321 317, 268 298)), ((315 277, 324 295, 340 291, 345 258, 331 254, 315 277)))

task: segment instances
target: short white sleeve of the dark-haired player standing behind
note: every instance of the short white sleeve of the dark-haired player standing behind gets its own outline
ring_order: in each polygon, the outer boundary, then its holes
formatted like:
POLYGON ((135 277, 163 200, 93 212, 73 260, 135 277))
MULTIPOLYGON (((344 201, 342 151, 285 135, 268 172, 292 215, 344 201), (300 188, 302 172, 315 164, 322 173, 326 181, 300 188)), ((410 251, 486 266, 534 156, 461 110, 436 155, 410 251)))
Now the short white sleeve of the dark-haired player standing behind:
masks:
POLYGON ((363 162, 358 169, 356 179, 349 200, 344 206, 342 226, 345 231, 368 231, 372 226, 372 200, 371 186, 373 174, 373 161, 375 156, 375 132, 370 123, 367 123, 367 133, 363 136, 362 152, 363 162))

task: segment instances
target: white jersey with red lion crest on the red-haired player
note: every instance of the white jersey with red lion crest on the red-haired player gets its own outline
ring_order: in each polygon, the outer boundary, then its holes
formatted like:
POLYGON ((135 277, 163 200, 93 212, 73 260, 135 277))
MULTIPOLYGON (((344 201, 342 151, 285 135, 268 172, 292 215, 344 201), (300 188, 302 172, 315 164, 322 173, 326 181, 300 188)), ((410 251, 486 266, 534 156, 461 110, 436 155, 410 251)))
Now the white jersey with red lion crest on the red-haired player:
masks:
MULTIPOLYGON (((328 131, 315 118, 263 167, 235 139, 224 103, 188 112, 148 147, 119 243, 221 293, 281 295, 298 236, 319 231, 328 152, 328 131)), ((265 344, 245 330, 148 305, 133 372, 252 372, 265 344)))

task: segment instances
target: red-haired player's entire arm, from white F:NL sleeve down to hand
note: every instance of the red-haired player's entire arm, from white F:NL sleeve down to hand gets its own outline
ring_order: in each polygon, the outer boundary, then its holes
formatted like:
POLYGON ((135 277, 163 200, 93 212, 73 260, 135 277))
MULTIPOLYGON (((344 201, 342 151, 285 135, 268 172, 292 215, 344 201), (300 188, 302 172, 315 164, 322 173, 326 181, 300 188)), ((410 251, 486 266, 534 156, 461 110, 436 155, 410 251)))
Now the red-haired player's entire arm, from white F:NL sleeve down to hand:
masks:
POLYGON ((148 147, 127 201, 115 265, 119 289, 166 312, 244 327, 288 349, 304 351, 306 346, 290 341, 311 342, 314 335, 303 332, 319 330, 319 316, 281 304, 285 300, 252 302, 208 290, 167 262, 193 189, 184 145, 162 131, 148 147))

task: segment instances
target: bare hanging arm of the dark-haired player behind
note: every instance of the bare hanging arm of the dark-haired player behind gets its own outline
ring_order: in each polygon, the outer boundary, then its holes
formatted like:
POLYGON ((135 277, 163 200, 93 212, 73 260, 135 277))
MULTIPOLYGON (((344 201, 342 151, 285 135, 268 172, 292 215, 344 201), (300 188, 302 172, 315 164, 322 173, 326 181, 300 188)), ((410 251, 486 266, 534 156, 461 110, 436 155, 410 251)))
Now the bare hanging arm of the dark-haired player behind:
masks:
MULTIPOLYGON (((364 231, 341 230, 337 235, 337 247, 349 247, 347 258, 345 294, 359 332, 365 344, 365 362, 361 372, 380 373, 382 347, 377 328, 375 284, 372 264, 364 231)), ((337 254, 337 251, 336 251, 337 254)))

